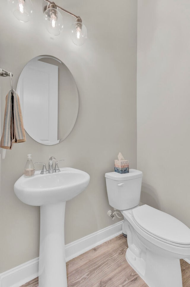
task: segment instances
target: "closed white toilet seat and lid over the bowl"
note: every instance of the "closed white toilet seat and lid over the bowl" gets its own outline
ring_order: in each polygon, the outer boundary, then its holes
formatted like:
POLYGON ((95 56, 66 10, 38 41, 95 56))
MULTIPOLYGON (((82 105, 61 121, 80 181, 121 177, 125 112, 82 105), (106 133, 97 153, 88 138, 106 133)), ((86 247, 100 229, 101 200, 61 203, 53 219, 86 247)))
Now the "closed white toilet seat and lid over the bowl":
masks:
POLYGON ((171 245, 190 247, 190 229, 177 218, 146 204, 134 208, 132 217, 152 237, 171 245))

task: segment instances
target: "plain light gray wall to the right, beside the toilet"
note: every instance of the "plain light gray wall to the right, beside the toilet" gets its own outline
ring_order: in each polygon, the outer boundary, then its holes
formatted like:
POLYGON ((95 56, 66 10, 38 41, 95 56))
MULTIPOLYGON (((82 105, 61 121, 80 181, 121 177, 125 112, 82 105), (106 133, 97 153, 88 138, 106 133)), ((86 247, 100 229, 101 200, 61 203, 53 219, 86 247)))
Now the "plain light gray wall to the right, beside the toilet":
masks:
POLYGON ((138 1, 137 168, 141 201, 190 227, 190 3, 138 1))

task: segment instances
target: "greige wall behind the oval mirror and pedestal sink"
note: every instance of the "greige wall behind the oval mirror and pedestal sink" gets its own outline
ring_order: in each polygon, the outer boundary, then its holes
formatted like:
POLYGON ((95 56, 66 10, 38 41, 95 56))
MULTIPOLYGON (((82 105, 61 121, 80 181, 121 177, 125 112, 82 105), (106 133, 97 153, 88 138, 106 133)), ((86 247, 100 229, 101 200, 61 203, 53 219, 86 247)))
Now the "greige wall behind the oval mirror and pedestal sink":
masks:
MULTIPOLYGON (((64 15, 64 32, 51 36, 44 27, 42 2, 33 0, 34 16, 28 23, 13 17, 4 1, 0 10, 0 65, 13 72, 16 89, 25 64, 38 55, 53 55, 72 72, 79 91, 79 113, 71 134, 60 144, 44 146, 26 135, 26 143, 8 150, 1 166, 0 272, 38 256, 39 207, 23 204, 13 185, 23 174, 26 154, 33 161, 50 156, 65 159, 61 166, 88 172, 88 188, 66 204, 65 243, 113 223, 107 217, 105 172, 113 171, 121 151, 136 168, 136 58, 137 1, 67 1, 64 8, 80 15, 88 28, 88 41, 75 46, 68 27, 74 18, 64 15)), ((63 5, 61 0, 56 3, 63 5)), ((1 78, 1 120, 9 78, 1 78)))

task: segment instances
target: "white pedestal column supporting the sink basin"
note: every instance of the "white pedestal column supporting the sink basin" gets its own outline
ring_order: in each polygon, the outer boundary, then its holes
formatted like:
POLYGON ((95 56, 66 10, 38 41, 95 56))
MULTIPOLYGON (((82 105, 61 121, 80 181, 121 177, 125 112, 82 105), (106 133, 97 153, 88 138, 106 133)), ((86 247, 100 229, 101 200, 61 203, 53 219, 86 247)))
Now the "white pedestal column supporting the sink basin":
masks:
POLYGON ((39 287, 67 287, 65 204, 40 206, 39 287))

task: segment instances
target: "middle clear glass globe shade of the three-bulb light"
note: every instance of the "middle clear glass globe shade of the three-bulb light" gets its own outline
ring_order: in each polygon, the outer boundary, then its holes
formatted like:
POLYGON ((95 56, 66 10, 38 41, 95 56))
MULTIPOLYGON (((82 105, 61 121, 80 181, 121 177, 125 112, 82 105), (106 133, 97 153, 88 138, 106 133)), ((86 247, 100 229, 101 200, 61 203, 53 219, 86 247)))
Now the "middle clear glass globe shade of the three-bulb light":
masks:
POLYGON ((55 8, 48 8, 44 12, 44 22, 47 31, 52 35, 59 35, 63 29, 63 17, 55 8))

